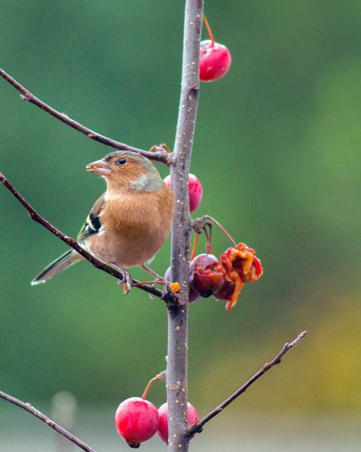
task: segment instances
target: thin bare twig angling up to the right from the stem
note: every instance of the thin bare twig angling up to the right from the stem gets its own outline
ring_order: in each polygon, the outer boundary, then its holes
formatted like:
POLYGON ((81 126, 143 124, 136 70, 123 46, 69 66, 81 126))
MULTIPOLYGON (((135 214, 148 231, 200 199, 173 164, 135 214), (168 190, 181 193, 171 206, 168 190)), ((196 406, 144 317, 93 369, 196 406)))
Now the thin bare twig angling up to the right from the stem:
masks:
POLYGON ((187 433, 192 436, 195 433, 201 433, 203 430, 203 426, 210 421, 212 418, 217 416, 217 414, 221 413, 226 406, 228 406, 230 403, 232 403, 238 396, 243 394, 256 380, 258 380, 262 375, 264 375, 268 370, 270 370, 273 366, 276 366, 276 364, 279 364, 281 362, 281 359, 283 355, 285 355, 289 350, 291 350, 293 347, 295 347, 302 339, 305 337, 306 331, 302 331, 298 336, 295 338, 293 342, 290 344, 286 343, 282 350, 279 352, 279 354, 270 362, 266 363, 262 369, 260 369, 252 378, 250 378, 243 386, 241 386, 239 389, 237 389, 236 392, 234 392, 231 396, 228 397, 224 402, 222 402, 220 405, 218 405, 214 410, 212 410, 210 413, 206 414, 205 417, 203 417, 200 421, 196 422, 194 425, 188 428, 187 433))

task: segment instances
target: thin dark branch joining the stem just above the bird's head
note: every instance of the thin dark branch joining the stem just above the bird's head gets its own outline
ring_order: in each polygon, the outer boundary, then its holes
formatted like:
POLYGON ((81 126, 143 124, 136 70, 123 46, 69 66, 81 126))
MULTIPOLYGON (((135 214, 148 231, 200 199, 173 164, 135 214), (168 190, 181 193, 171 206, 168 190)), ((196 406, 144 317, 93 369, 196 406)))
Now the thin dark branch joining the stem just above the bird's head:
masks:
POLYGON ((23 85, 21 85, 15 78, 13 78, 11 75, 7 74, 3 69, 0 68, 0 75, 8 81, 11 85, 14 86, 18 91, 21 92, 21 98, 23 100, 26 100, 27 102, 34 103, 34 105, 37 105, 42 110, 49 113, 49 115, 53 116, 54 118, 62 121, 64 124, 67 124, 68 126, 72 127, 73 129, 77 130, 78 132, 81 132, 82 134, 86 135, 87 137, 91 138, 92 140, 99 141, 99 143, 103 143, 106 146, 110 146, 115 149, 119 149, 121 151, 133 151, 137 152, 138 154, 143 155, 144 157, 148 158, 149 160, 155 160, 157 162, 165 163, 166 165, 170 165, 171 161, 171 154, 166 152, 161 147, 156 146, 155 152, 148 152, 143 151, 142 149, 133 148, 132 146, 128 146, 123 143, 119 143, 118 141, 112 140, 111 138, 104 137, 104 135, 100 135, 91 129, 88 129, 87 127, 83 126, 82 124, 72 120, 64 113, 60 113, 59 111, 55 110, 53 107, 47 105, 45 102, 40 100, 38 97, 34 96, 30 91, 28 91, 23 85))

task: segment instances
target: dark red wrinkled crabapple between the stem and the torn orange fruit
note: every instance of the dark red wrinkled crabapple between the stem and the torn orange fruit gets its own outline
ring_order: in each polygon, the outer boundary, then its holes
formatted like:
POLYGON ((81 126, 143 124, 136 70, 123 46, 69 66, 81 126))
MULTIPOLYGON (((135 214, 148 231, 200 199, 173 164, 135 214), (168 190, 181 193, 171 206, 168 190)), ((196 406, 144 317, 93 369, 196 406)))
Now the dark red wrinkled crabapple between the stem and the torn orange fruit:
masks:
POLYGON ((190 287, 208 298, 222 289, 225 269, 213 254, 200 254, 190 265, 190 287))

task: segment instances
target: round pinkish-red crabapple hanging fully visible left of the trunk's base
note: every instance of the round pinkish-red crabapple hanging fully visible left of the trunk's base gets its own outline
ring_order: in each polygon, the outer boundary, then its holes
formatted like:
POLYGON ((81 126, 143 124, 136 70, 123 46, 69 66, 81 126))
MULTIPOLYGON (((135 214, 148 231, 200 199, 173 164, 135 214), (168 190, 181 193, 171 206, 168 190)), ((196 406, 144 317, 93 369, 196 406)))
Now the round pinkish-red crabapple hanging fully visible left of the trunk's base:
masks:
POLYGON ((130 447, 137 448, 157 431, 159 414, 148 400, 130 397, 118 406, 114 420, 120 436, 130 447))

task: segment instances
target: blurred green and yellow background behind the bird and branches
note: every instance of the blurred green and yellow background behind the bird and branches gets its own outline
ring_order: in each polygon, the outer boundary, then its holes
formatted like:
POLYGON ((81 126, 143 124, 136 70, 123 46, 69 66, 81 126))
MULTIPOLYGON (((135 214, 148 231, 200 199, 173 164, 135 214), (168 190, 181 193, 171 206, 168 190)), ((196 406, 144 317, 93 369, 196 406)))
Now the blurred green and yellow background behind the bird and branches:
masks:
MULTIPOLYGON (((0 65, 35 95, 124 143, 172 147, 184 2, 2 0, 1 10, 0 65)), ((201 86, 191 171, 204 199, 194 216, 212 214, 255 248, 264 276, 230 312, 213 298, 191 306, 190 401, 205 414, 286 341, 303 329, 308 337, 191 449, 357 450, 361 3, 206 0, 205 11, 233 64, 201 86)), ((110 149, 21 101, 5 80, 0 99, 0 169, 75 237, 104 190, 84 166, 110 149)), ((127 450, 114 411, 165 367, 164 305, 138 290, 122 296, 86 262, 31 287, 66 247, 0 191, 0 389, 54 415, 54 394, 69 391, 76 403, 58 396, 74 433, 99 452, 127 450)), ((227 247, 216 233, 217 254, 227 247)), ((154 270, 168 256, 169 243, 154 270)), ((165 401, 163 383, 149 399, 165 401)), ((73 450, 55 436, 0 400, 1 450, 73 450)), ((166 447, 153 438, 142 449, 166 447)))

